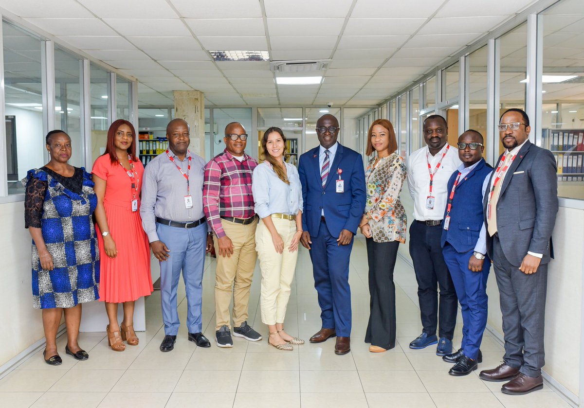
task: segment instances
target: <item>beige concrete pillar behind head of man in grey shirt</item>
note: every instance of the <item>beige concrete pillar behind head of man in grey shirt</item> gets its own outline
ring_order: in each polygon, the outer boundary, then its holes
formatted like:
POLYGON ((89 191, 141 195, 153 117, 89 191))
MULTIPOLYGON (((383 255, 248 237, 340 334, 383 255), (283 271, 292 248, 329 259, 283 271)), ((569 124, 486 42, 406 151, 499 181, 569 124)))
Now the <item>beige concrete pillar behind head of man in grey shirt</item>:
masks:
POLYGON ((205 156, 205 95, 200 90, 175 90, 175 118, 190 125, 190 151, 205 156))

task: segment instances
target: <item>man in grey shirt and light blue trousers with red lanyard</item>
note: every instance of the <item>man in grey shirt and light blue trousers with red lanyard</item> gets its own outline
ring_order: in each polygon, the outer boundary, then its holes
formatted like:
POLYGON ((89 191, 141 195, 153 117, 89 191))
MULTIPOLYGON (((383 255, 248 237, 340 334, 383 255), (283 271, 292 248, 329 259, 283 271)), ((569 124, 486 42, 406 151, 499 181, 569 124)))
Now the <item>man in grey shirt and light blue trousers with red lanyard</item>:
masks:
POLYGON ((211 343, 201 333, 205 252, 213 239, 203 214, 203 158, 189 151, 189 124, 182 119, 166 126, 168 149, 144 170, 140 215, 152 253, 160 261, 164 340, 161 351, 174 348, 179 330, 176 289, 180 271, 186 286, 189 340, 199 347, 211 343))

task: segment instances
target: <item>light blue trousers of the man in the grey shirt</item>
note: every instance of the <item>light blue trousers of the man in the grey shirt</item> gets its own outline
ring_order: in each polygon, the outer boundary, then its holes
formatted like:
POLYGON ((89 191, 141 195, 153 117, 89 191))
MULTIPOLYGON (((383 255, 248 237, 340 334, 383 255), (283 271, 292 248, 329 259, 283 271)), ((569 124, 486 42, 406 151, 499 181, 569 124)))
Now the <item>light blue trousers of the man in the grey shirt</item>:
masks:
POLYGON ((180 320, 176 311, 176 289, 180 271, 186 287, 187 319, 189 333, 203 331, 201 305, 203 304, 203 270, 207 246, 207 224, 194 228, 177 228, 156 224, 158 238, 170 250, 170 257, 160 263, 160 290, 164 333, 176 336, 180 320))

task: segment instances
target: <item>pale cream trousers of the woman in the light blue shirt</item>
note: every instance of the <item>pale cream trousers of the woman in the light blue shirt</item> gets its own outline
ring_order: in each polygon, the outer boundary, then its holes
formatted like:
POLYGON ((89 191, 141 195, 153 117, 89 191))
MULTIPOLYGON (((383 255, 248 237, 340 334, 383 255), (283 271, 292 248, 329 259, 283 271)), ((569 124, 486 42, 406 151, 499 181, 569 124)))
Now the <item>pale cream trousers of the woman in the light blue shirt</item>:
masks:
POLYGON ((272 234, 262 220, 259 221, 255 236, 259 266, 262 269, 259 304, 262 322, 266 325, 284 323, 286 307, 290 299, 290 284, 294 278, 298 259, 298 249, 294 252, 288 251, 296 232, 296 221, 281 218, 272 218, 272 221, 284 241, 283 253, 277 253, 274 249, 272 234))

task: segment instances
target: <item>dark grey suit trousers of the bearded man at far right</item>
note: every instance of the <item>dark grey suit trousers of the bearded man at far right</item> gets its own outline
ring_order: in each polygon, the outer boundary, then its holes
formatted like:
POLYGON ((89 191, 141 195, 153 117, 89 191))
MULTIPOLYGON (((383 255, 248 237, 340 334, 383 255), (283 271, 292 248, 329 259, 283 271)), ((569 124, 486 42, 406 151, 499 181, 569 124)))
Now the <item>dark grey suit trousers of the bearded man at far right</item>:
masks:
POLYGON ((503 313, 506 364, 530 377, 544 366, 544 317, 547 264, 525 274, 507 261, 497 236, 493 236, 493 269, 503 313))

